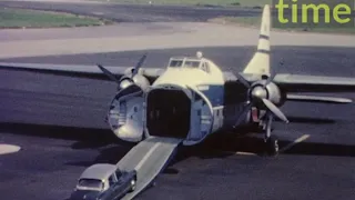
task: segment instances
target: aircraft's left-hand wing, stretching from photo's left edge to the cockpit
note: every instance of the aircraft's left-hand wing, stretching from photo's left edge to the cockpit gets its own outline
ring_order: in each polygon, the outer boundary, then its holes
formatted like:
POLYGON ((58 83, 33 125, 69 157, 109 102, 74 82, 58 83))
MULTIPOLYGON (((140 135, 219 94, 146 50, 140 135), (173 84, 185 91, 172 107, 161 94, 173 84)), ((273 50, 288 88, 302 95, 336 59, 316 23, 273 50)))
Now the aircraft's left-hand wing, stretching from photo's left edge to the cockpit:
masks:
MULTIPOLYGON (((121 77, 126 70, 132 69, 133 67, 105 66, 105 68, 118 77, 121 77)), ((33 71, 39 73, 109 80, 97 66, 0 62, 0 70, 33 71)), ((150 81, 154 81, 165 70, 162 68, 140 68, 140 73, 145 76, 150 81)))

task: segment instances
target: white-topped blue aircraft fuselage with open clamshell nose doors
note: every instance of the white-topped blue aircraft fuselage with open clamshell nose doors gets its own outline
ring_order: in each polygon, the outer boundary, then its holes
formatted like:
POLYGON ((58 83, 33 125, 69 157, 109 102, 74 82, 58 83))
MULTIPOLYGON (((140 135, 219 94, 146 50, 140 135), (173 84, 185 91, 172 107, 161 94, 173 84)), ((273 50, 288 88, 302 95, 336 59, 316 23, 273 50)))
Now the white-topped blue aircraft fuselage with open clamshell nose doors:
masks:
POLYGON ((111 129, 122 140, 160 136, 182 138, 184 146, 192 146, 221 129, 248 122, 248 113, 241 116, 245 88, 226 83, 207 59, 171 59, 152 86, 135 90, 118 93, 109 111, 111 129), (231 87, 235 92, 229 92, 231 87))

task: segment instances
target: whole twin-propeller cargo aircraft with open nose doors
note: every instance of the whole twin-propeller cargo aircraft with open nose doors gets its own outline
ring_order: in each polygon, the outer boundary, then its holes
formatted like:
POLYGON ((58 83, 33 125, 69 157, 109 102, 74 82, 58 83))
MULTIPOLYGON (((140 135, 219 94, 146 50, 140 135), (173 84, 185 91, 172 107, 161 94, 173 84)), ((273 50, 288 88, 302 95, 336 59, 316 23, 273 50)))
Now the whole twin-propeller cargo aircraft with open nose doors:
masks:
POLYGON ((272 136, 274 118, 288 122, 280 110, 286 101, 348 103, 349 99, 301 96, 300 92, 354 91, 355 78, 271 73, 271 10, 265 6, 257 50, 240 73, 222 71, 202 52, 170 58, 165 69, 135 67, 0 63, 0 69, 30 70, 64 76, 106 77, 118 83, 106 121, 122 140, 140 142, 150 136, 182 139, 183 146, 241 126, 256 126, 265 150, 277 153, 272 136), (294 94, 292 94, 294 93, 294 94), (297 94, 295 94, 297 93, 297 94))

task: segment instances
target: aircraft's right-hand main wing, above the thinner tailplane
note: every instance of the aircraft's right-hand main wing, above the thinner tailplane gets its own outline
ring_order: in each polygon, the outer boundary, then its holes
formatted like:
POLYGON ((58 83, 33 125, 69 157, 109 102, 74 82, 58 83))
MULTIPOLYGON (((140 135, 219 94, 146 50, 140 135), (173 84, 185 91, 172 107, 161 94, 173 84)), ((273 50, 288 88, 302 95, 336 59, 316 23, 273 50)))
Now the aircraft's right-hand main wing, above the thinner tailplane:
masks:
POLYGON ((286 92, 355 92, 355 78, 278 73, 274 82, 286 92))

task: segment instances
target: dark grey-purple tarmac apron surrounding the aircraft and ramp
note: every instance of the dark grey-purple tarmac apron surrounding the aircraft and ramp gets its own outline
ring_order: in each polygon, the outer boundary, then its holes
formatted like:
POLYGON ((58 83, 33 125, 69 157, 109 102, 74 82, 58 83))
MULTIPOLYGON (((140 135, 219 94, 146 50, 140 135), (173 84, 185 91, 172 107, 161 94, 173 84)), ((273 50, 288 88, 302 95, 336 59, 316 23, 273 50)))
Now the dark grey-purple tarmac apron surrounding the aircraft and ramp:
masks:
MULTIPOLYGON (((239 63, 245 61, 240 58, 251 56, 253 48, 196 49, 237 71, 243 66, 239 63)), ((169 56, 189 54, 196 49, 149 51, 146 66, 164 67, 169 56)), ((354 50, 308 47, 274 50, 276 58, 286 62, 278 72, 354 76, 351 68, 355 62, 354 50), (346 64, 334 67, 343 58, 349 58, 346 64)), ((126 66, 134 63, 141 53, 1 61, 95 60, 126 66)), ((17 153, 0 157, 3 197, 65 199, 85 167, 116 163, 130 150, 128 144, 112 143, 115 140, 110 138, 112 134, 103 121, 115 83, 31 72, 2 71, 0 76, 0 141, 21 147, 17 153), (20 192, 13 187, 24 184, 20 192)), ((355 99, 354 93, 337 96, 355 99)), ((215 136, 200 147, 179 150, 176 160, 159 176, 156 187, 138 199, 353 199, 354 104, 286 103, 282 109, 291 123, 276 122, 274 132, 281 139, 281 149, 291 146, 278 157, 255 156, 261 152, 257 139, 241 139, 236 133, 215 136), (295 142, 297 139, 300 143, 295 142)))

